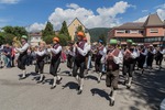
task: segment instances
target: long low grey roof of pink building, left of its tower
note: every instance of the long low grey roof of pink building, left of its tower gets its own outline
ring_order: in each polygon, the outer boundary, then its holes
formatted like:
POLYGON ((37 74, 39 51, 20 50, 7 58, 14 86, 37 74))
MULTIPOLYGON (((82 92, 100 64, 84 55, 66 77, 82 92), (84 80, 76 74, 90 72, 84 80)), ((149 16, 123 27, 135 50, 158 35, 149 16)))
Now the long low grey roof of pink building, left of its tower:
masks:
POLYGON ((114 29, 143 29, 144 22, 129 22, 114 29))

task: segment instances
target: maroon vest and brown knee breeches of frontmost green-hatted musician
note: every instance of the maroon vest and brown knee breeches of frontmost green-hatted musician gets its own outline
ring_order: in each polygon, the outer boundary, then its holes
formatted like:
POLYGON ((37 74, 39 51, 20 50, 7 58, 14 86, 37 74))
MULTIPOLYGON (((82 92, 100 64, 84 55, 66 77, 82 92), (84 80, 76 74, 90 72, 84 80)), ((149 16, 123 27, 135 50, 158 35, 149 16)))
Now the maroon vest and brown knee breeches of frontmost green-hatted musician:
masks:
MULTIPOLYGON (((118 57, 120 50, 109 50, 108 53, 113 53, 114 56, 118 57)), ((107 77, 106 85, 107 87, 113 87, 113 89, 118 89, 118 80, 119 80, 119 64, 113 62, 112 57, 107 58, 107 77)))

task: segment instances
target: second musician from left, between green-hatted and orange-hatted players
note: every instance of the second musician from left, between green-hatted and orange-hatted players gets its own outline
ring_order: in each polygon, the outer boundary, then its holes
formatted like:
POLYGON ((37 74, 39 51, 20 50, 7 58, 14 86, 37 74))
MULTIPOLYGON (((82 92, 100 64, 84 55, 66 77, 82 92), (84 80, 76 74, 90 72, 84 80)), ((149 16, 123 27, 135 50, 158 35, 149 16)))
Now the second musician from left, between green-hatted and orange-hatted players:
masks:
POLYGON ((36 54, 36 64, 35 64, 35 73, 40 74, 40 79, 37 84, 42 82, 45 79, 45 76, 43 75, 44 72, 44 64, 45 64, 45 56, 47 55, 47 51, 45 47, 46 43, 45 42, 40 42, 40 46, 37 51, 35 52, 36 54))

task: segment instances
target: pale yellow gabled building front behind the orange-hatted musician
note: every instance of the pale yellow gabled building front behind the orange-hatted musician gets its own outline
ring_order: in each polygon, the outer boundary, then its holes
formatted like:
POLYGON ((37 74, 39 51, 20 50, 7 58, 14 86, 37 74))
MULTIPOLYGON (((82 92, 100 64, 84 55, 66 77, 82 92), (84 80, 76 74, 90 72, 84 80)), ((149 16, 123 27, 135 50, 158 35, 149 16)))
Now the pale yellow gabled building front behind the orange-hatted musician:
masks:
POLYGON ((77 28, 80 25, 86 34, 88 43, 90 43, 90 34, 89 34, 88 30, 77 18, 74 19, 73 22, 68 25, 68 32, 69 32, 69 35, 72 36, 72 41, 75 40, 77 28))

